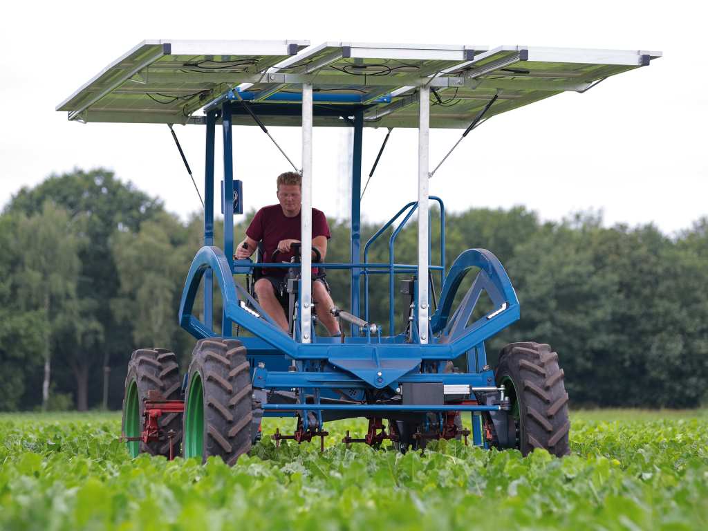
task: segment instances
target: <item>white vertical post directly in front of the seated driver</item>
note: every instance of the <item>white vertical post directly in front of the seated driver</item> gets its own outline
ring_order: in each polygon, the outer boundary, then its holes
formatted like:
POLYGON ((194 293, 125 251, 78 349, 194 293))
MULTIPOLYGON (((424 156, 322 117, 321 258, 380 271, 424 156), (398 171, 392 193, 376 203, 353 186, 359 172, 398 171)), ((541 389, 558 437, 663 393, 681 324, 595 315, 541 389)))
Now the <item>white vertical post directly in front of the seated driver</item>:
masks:
MULTIPOLYGON (((312 328, 312 84, 302 84, 302 206, 300 207, 300 333, 309 343, 312 328)), ((427 263, 427 262, 426 262, 427 263)))

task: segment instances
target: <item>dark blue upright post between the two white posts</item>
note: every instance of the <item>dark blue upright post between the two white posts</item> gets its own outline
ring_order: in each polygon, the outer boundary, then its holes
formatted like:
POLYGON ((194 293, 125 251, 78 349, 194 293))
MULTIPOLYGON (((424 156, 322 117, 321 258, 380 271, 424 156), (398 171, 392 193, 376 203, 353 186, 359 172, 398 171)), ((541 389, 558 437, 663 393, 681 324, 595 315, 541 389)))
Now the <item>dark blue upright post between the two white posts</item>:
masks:
MULTIPOLYGON (((364 111, 354 113, 354 145, 352 151, 352 205, 351 205, 351 262, 360 262, 361 249, 361 144, 364 136, 364 111)), ((360 316, 360 275, 359 268, 351 270, 351 314, 360 316)), ((352 325, 352 335, 358 335, 352 325)))

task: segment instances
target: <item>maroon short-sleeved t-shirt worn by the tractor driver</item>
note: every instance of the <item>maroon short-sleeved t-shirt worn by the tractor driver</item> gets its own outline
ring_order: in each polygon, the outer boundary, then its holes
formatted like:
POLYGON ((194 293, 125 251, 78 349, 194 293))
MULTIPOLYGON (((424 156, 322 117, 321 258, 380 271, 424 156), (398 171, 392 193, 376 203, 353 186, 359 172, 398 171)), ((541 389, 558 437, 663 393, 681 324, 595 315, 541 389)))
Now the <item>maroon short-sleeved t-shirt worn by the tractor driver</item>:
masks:
MULTIPOLYGON (((270 262, 273 256, 273 251, 278 249, 278 242, 287 239, 300 239, 300 215, 298 213, 295 217, 287 217, 282 213, 282 207, 280 205, 269 205, 268 207, 263 207, 261 210, 256 212, 253 216, 253 220, 246 229, 246 236, 256 241, 263 241, 263 261, 270 262)), ((331 238, 329 234, 329 226, 327 225, 327 218, 324 212, 312 209, 312 237, 326 236, 327 239, 331 238)), ((278 253, 279 262, 289 262, 292 258, 293 253, 278 253)), ((264 268, 263 275, 269 275, 273 277, 285 276, 285 268, 264 268)), ((312 274, 316 275, 317 270, 312 268, 312 274)))

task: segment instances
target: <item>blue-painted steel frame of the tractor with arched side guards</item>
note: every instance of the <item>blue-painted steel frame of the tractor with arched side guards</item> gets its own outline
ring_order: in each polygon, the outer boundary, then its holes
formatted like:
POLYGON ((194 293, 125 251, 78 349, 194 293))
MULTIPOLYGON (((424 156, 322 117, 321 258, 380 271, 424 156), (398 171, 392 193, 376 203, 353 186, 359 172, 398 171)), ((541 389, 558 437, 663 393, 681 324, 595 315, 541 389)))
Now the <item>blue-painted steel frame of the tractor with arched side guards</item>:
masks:
MULTIPOLYGON (((244 99, 246 94, 241 94, 244 99)), ((364 275, 365 319, 369 315, 368 280, 372 274, 389 275, 389 336, 380 333, 365 336, 358 335, 353 327, 352 336, 344 343, 339 338, 316 337, 312 333, 312 343, 300 343, 276 326, 270 319, 261 319, 246 309, 248 295, 240 285, 234 282, 234 273, 251 271, 255 267, 288 267, 282 263, 253 265, 239 261, 234 265, 234 216, 229 208, 224 209, 223 251, 214 246, 214 172, 215 172, 215 127, 217 120, 222 120, 223 162, 224 162, 224 197, 233 194, 233 141, 231 101, 224 101, 221 109, 210 110, 206 117, 205 148, 205 217, 204 246, 198 251, 190 266, 183 290, 179 321, 181 326, 195 338, 232 336, 232 324, 253 333, 255 337, 241 336, 249 353, 253 369, 253 387, 259 389, 301 389, 302 393, 314 392, 315 404, 265 404, 268 416, 292 416, 295 411, 313 411, 321 420, 322 411, 348 411, 350 416, 362 416, 377 413, 400 411, 472 411, 473 435, 476 444, 482 444, 481 411, 493 411, 499 406, 456 405, 456 406, 390 406, 360 404, 321 404, 321 396, 333 392, 333 389, 362 391, 383 389, 394 392, 405 382, 442 382, 443 384, 469 384, 471 387, 489 387, 493 385, 493 371, 486 365, 484 341, 505 329, 519 318, 518 299, 513 286, 501 263, 489 251, 469 249, 461 253, 445 273, 445 205, 442 200, 430 196, 440 205, 440 265, 430 265, 430 270, 440 271, 442 288, 438 308, 430 319, 430 343, 406 343, 403 333, 394 334, 394 275, 413 273, 416 265, 397 264, 394 258, 396 237, 404 228, 417 209, 417 202, 409 202, 392 217, 384 227, 372 236, 364 249, 363 262, 360 262, 360 195, 361 195, 361 158, 363 109, 354 113, 353 129, 353 171, 350 255, 351 263, 325 263, 324 268, 349 269, 351 275, 351 313, 360 315, 360 275, 364 275), (376 239, 392 226, 405 212, 404 219, 389 237, 389 262, 369 263, 368 251, 376 239), (457 290, 467 273, 479 269, 474 282, 467 291, 462 304, 450 315, 452 302, 457 290), (204 281, 204 308, 202 319, 193 314, 193 304, 204 281), (214 330, 212 323, 212 285, 217 282, 222 298, 222 333, 214 330), (486 291, 496 311, 481 319, 468 323, 476 302, 482 291, 486 291), (445 373, 443 368, 448 360, 459 356, 467 358, 467 372, 445 373), (260 362, 263 362, 261 367, 260 362), (297 371, 288 370, 288 365, 295 362, 297 371), (421 365, 435 367, 434 372, 421 372, 421 365), (432 365, 430 365, 432 364, 432 365)), ((224 204, 229 205, 230 202, 224 204)), ((428 238, 430 240, 430 238, 428 238)), ((430 253, 428 253, 430 256, 430 253)), ((307 428, 307 415, 303 415, 307 428)))

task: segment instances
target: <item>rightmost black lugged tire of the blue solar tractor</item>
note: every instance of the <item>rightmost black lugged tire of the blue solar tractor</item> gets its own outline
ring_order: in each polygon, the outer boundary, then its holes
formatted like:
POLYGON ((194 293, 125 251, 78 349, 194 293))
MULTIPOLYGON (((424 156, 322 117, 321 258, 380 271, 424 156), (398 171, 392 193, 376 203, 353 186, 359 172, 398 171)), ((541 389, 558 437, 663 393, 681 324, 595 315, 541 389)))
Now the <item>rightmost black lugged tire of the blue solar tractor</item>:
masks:
POLYGON ((522 455, 544 448, 553 455, 569 455, 571 423, 568 394, 558 355, 542 343, 510 343, 501 350, 495 370, 511 401, 515 447, 522 455))

